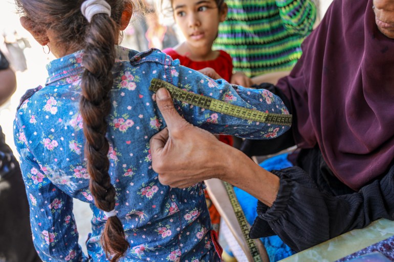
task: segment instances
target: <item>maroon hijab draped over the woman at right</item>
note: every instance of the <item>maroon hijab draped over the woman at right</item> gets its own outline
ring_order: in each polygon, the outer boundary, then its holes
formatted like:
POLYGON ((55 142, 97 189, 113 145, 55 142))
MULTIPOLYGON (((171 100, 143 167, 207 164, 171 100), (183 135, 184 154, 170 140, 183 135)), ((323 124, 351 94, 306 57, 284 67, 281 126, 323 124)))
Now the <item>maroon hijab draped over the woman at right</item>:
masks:
POLYGON ((334 0, 278 83, 295 108, 298 146, 318 144, 356 190, 394 158, 394 39, 379 31, 372 7, 372 0, 334 0))

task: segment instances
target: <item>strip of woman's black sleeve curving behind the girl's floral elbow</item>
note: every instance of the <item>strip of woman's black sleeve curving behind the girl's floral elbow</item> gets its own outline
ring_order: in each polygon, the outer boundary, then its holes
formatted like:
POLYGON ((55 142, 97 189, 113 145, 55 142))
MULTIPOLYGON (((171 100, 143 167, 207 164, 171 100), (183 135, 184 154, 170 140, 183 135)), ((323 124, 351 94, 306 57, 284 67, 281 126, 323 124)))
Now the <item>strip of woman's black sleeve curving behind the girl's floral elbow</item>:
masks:
MULTIPOLYGON (((264 88, 272 93, 276 94, 280 99, 283 101, 284 105, 289 109, 290 113, 294 111, 291 108, 290 101, 280 89, 278 89, 273 84, 269 83, 262 83, 259 86, 254 86, 257 88, 264 88)), ((294 120, 295 114, 293 114, 293 124, 295 123, 294 120)), ((244 152, 247 156, 263 156, 263 155, 270 155, 277 153, 281 150, 290 148, 295 145, 294 138, 293 138, 293 128, 290 128, 286 133, 278 136, 274 139, 245 139, 240 146, 240 151, 244 152)))

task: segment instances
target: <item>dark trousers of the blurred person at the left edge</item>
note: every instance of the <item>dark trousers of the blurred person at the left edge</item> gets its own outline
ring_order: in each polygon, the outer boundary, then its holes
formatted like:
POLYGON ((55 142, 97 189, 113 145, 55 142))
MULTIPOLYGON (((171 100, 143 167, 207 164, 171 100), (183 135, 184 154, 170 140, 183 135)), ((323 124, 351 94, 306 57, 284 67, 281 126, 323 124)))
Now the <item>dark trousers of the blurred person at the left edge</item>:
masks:
POLYGON ((39 262, 19 165, 0 179, 0 262, 39 262))

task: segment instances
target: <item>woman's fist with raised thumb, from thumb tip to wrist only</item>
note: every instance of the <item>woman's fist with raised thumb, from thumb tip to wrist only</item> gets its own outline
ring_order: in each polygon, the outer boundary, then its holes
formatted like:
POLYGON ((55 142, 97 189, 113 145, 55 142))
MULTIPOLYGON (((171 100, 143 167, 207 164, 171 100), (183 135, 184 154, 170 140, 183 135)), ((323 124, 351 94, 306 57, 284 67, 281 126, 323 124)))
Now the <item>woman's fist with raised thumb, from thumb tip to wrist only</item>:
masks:
POLYGON ((150 139, 152 168, 159 174, 159 181, 184 188, 212 177, 221 178, 227 160, 219 152, 231 147, 186 122, 166 89, 157 91, 156 102, 167 124, 150 139))

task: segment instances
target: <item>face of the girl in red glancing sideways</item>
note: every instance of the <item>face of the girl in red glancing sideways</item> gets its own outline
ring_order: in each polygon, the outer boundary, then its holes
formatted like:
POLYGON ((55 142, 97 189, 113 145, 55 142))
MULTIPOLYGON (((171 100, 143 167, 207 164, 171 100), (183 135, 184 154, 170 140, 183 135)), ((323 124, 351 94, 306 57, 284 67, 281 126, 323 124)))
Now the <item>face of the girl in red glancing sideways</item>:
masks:
POLYGON ((174 18, 186 41, 194 48, 211 47, 227 8, 219 9, 215 0, 173 0, 174 18))

